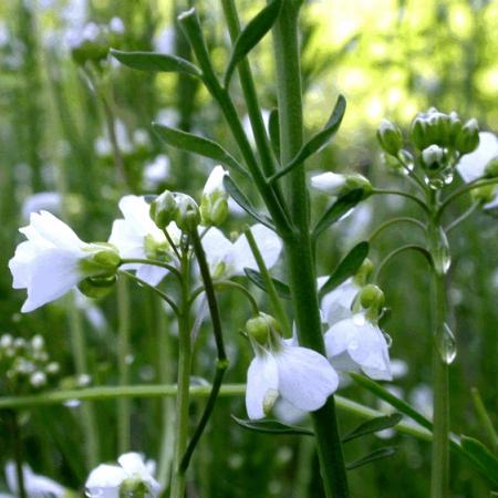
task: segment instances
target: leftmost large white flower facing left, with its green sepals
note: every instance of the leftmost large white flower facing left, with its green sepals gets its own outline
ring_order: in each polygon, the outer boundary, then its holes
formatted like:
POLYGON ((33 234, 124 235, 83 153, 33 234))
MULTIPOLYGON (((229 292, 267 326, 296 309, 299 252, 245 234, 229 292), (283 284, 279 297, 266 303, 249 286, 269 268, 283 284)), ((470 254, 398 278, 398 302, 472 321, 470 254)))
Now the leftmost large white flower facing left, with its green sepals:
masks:
MULTIPOLYGON (((32 212, 30 225, 19 231, 28 240, 17 247, 9 268, 12 287, 28 290, 22 312, 54 301, 85 278, 97 276, 98 269, 92 268, 92 256, 101 250, 113 252, 110 248, 83 242, 68 225, 48 211, 32 212)), ((111 262, 117 268, 117 255, 111 262)))

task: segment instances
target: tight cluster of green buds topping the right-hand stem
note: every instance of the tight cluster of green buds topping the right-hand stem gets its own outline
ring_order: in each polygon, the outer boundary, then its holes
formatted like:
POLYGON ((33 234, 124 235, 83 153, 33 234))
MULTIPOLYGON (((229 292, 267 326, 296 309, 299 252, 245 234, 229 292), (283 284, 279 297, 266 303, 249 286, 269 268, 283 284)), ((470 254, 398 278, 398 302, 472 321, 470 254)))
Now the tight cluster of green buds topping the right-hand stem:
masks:
POLYGON ((435 107, 415 116, 409 128, 412 152, 403 148, 401 128, 383 120, 377 129, 385 163, 393 169, 409 172, 419 166, 430 188, 452 183, 458 159, 479 145, 479 127, 471 118, 461 123, 457 113, 445 114, 435 107))

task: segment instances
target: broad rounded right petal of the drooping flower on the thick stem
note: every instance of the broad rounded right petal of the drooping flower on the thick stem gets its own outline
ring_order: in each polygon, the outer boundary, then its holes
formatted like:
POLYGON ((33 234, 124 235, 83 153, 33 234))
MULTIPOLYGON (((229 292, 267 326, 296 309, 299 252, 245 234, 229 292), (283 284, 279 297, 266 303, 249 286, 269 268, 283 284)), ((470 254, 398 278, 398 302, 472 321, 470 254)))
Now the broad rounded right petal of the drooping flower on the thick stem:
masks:
POLYGON ((314 412, 338 388, 338 374, 315 351, 284 345, 274 356, 280 395, 297 408, 314 412))

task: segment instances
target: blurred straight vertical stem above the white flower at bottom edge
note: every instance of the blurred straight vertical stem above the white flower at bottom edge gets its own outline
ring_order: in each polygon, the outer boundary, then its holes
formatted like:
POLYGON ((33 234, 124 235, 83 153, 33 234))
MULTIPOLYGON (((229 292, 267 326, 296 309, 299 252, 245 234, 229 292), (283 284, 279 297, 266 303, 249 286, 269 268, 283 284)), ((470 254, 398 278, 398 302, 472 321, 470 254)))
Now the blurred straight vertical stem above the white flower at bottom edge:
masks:
MULTIPOLYGON (((117 372, 120 385, 129 384, 129 293, 126 280, 117 282, 117 372)), ((129 452, 129 400, 117 401, 117 446, 120 455, 129 452)))

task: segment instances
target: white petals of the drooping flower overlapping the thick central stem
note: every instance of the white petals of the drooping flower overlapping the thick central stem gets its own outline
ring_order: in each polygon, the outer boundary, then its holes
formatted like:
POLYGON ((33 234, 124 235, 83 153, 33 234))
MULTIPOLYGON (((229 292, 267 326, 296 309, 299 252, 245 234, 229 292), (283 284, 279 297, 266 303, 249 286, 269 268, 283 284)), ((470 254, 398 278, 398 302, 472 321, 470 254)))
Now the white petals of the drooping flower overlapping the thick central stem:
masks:
POLYGON ((255 359, 247 372, 246 408, 249 418, 263 418, 278 396, 294 408, 314 412, 335 392, 339 377, 324 356, 273 338, 264 347, 251 341, 255 359))

